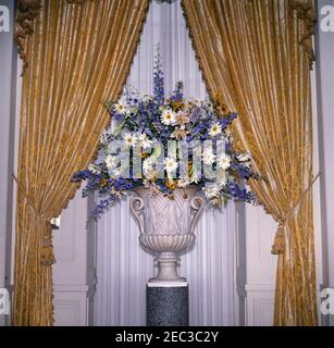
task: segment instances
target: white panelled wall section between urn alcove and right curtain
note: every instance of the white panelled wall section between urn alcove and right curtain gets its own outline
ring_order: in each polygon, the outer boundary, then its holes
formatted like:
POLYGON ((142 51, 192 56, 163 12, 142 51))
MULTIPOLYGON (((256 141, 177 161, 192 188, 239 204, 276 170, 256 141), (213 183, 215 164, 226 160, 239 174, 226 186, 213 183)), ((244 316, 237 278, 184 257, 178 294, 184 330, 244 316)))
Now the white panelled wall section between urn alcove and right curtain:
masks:
POLYGON ((276 224, 262 207, 236 204, 236 290, 239 325, 273 324, 276 257, 270 253, 276 224))

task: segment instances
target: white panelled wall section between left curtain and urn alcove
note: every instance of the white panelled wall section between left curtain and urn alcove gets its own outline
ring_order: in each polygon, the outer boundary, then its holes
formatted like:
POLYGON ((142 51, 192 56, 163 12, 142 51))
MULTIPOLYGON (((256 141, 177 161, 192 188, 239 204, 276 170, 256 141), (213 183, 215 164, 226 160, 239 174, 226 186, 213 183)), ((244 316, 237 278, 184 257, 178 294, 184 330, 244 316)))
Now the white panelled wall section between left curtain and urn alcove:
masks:
POLYGON ((78 190, 53 231, 57 263, 53 265, 53 304, 57 326, 92 324, 96 286, 95 223, 86 228, 91 209, 78 190))

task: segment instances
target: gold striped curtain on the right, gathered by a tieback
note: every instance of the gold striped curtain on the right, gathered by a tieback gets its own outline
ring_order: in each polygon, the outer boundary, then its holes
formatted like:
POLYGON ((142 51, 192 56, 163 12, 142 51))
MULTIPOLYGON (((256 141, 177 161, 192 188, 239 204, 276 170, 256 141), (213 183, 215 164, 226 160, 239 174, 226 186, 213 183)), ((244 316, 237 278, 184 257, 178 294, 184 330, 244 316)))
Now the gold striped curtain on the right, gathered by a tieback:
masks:
POLYGON ((212 96, 239 113, 236 145, 267 181, 251 187, 279 228, 275 325, 317 325, 309 0, 183 0, 212 96))

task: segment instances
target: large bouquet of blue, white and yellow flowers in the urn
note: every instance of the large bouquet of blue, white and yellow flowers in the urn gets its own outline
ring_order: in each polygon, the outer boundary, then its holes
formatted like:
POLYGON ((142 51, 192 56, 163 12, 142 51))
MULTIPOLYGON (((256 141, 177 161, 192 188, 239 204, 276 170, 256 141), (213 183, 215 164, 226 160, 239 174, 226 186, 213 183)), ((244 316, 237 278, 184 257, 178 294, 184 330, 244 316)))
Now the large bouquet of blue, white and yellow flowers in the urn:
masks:
POLYGON ((197 185, 213 207, 228 199, 256 202, 244 187, 245 179, 258 177, 251 157, 234 150, 227 129, 237 114, 218 100, 185 100, 182 82, 165 98, 159 49, 153 86, 153 96, 126 90, 120 102, 106 103, 112 123, 100 136, 99 157, 73 175, 74 182, 87 181, 84 196, 101 197, 92 215, 139 186, 173 199, 174 189, 197 185), (143 172, 134 170, 138 163, 143 172))

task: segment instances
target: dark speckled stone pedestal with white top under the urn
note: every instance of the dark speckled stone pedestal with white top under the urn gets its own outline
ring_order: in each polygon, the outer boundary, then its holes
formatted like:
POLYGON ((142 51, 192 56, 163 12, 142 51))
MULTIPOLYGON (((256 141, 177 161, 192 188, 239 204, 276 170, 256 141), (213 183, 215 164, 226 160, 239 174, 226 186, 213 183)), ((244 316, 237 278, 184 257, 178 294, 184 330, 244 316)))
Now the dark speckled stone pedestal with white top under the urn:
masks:
POLYGON ((147 284, 147 325, 189 325, 188 283, 147 284))

